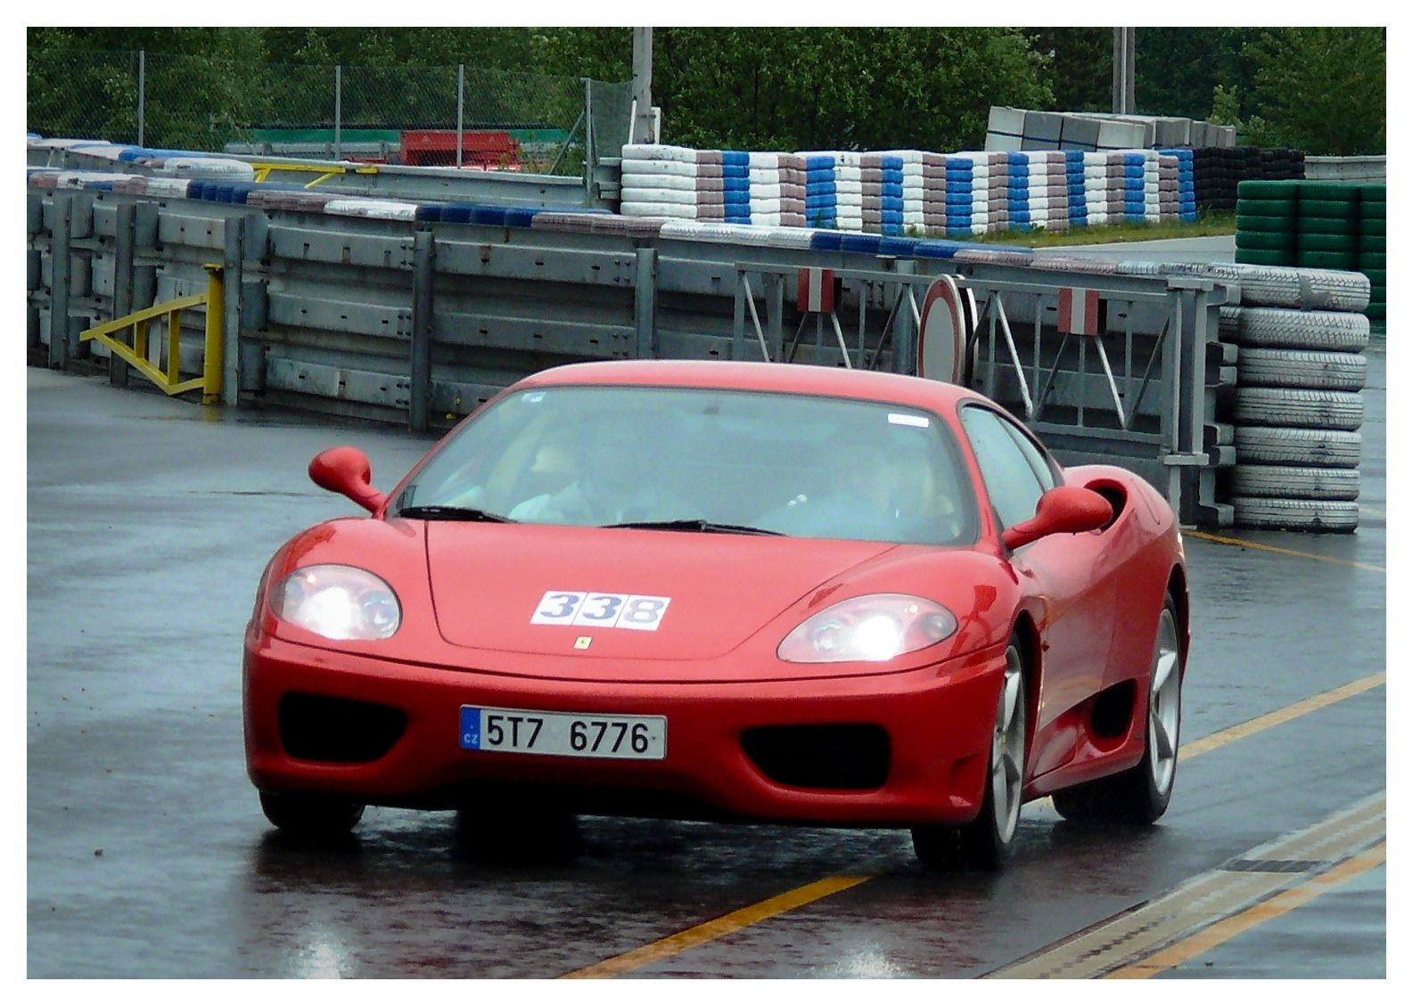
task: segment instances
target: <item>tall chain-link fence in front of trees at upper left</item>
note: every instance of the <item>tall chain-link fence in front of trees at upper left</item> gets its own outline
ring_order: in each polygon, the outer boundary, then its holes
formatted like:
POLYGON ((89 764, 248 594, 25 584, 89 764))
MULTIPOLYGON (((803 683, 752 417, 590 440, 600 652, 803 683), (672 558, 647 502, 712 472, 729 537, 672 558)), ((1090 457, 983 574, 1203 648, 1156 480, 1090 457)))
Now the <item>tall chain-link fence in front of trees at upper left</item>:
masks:
POLYGON ((627 141, 630 83, 472 65, 31 52, 28 130, 153 148, 579 175, 627 141), (458 143, 459 137, 459 143, 458 143))

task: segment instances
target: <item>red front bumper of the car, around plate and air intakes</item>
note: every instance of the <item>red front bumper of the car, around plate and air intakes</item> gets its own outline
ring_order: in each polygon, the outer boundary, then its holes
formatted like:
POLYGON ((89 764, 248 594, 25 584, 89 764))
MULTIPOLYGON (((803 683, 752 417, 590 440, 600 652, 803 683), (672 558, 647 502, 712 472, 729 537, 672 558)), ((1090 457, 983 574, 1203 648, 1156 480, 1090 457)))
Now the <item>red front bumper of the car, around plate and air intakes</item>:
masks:
POLYGON ((519 677, 510 667, 495 674, 421 667, 250 637, 246 764, 260 790, 338 793, 390 807, 451 808, 513 793, 579 812, 851 827, 965 822, 981 807, 1003 665, 996 651, 866 677, 602 684, 519 677), (287 695, 390 706, 401 715, 369 760, 294 757, 281 733, 287 695), (462 705, 667 716, 667 757, 463 750, 462 705), (742 743, 752 728, 844 723, 886 732, 886 776, 876 788, 781 784, 742 743))

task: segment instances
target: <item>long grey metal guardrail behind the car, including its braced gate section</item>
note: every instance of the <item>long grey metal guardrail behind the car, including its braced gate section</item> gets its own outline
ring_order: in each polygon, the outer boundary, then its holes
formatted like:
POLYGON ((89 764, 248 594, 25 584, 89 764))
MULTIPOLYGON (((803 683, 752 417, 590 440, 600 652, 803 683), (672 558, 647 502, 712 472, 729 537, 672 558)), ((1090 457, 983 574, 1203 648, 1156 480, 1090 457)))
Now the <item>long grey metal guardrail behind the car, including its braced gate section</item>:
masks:
MULTIPOLYGON (((793 359, 916 372, 921 294, 952 274, 982 305, 974 386, 1024 417, 1061 461, 1108 456, 1160 486, 1187 523, 1225 524, 1214 420, 1229 369, 1214 342, 1225 288, 1195 277, 1095 276, 1003 261, 329 216, 120 192, 28 192, 28 338, 64 367, 85 329, 225 277, 220 401, 270 403, 414 431, 451 425, 547 366, 625 357, 793 359), (838 329, 787 292, 800 268, 844 280, 838 329), (1098 341, 1056 331, 1061 287, 1098 290, 1098 341), (1009 333, 1009 336, 1007 336, 1009 333), (1105 346, 1105 356, 1098 355, 1105 346), (1218 355, 1212 357, 1212 350, 1218 355), (1212 362, 1215 360, 1215 363, 1212 362), (1105 367, 1108 363, 1108 367, 1105 367)), ((182 373, 205 343, 178 339, 182 373)))

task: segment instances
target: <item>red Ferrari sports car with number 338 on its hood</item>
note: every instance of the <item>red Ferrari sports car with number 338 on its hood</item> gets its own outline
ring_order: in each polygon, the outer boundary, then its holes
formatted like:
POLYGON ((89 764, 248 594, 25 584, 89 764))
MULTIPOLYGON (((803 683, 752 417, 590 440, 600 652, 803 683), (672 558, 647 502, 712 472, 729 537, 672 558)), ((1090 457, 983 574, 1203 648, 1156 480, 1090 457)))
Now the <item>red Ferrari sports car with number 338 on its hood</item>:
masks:
POLYGON ((366 804, 911 828, 996 868, 1020 807, 1152 822, 1188 643, 1166 500, 964 387, 612 362, 486 403, 295 535, 246 633, 285 829, 366 804))

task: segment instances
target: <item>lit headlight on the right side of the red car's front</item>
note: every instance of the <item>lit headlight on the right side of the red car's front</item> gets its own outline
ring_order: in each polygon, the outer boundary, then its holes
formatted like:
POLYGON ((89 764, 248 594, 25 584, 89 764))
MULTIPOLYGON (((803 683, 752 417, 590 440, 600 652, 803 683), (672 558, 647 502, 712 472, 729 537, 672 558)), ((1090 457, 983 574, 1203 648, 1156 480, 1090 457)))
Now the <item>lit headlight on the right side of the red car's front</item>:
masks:
POLYGON ((926 598, 869 593, 825 608, 781 640, 776 656, 793 664, 892 660, 941 643, 957 617, 926 598))

